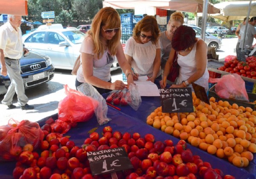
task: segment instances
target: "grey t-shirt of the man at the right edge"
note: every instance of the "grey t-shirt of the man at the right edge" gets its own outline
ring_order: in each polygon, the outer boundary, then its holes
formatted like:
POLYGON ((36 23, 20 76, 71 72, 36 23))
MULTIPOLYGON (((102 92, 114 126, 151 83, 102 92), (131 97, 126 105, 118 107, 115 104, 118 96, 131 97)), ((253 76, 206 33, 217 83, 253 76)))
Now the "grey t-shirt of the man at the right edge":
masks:
POLYGON ((246 45, 248 45, 248 46, 253 45, 253 35, 256 34, 256 30, 254 29, 254 26, 252 26, 251 24, 248 23, 246 35, 244 35, 245 27, 246 26, 243 26, 240 29, 241 40, 240 40, 239 48, 243 48, 243 49, 246 48, 246 45), (245 38, 244 46, 242 47, 242 43, 243 43, 244 38, 245 38))

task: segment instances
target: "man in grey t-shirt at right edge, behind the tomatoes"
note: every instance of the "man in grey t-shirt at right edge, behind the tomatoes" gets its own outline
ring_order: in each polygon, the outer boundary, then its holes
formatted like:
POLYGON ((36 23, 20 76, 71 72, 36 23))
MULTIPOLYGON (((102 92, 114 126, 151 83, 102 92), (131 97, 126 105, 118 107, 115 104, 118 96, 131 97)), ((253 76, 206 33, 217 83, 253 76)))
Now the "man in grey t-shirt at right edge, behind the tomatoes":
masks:
POLYGON ((239 49, 245 49, 246 46, 253 45, 253 38, 256 38, 256 30, 254 29, 255 25, 256 25, 256 16, 250 18, 247 29, 245 29, 246 26, 243 26, 240 29, 241 40, 239 44, 239 49), (246 30, 246 33, 245 33, 245 30, 246 30), (244 43, 244 46, 242 45, 243 43, 244 43))

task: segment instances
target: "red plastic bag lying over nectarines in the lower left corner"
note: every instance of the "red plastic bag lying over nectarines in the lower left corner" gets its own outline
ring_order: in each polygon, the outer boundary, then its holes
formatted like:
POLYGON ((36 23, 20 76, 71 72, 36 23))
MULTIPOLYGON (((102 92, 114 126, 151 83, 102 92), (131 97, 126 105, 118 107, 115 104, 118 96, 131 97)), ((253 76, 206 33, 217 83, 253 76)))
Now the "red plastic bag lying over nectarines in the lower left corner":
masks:
POLYGON ((37 122, 10 119, 7 125, 0 126, 0 161, 17 159, 26 144, 36 149, 44 139, 44 132, 37 122))

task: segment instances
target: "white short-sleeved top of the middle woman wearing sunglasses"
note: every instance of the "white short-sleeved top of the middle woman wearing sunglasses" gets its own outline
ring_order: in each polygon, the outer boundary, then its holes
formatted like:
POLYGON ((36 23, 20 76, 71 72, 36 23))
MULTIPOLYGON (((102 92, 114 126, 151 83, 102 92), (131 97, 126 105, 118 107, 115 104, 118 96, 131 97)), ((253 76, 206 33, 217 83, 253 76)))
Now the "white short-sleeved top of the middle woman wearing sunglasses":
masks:
MULTIPOLYGON (((153 76, 154 59, 157 49, 160 49, 160 40, 156 44, 151 41, 147 43, 137 43, 133 37, 129 38, 125 45, 125 54, 131 56, 131 67, 139 75, 153 76)), ((157 77, 161 75, 161 67, 157 73, 157 77)))

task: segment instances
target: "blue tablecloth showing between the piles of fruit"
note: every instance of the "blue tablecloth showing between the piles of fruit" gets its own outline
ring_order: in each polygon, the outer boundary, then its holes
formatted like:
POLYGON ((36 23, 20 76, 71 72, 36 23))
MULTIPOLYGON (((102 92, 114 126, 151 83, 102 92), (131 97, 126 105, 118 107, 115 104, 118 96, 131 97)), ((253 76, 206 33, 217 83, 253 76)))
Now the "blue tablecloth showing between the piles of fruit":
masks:
MULTIPOLYGON (((171 139, 175 144, 179 139, 169 134, 163 133, 161 130, 157 130, 154 127, 149 126, 145 123, 146 117, 156 108, 160 106, 160 97, 143 97, 143 103, 137 111, 134 111, 131 107, 119 107, 121 111, 116 110, 112 107, 108 109, 108 117, 112 120, 108 124, 99 126, 96 117, 90 119, 88 122, 81 122, 76 127, 72 128, 65 135, 71 136, 70 140, 73 140, 76 145, 81 146, 84 143, 88 135, 88 131, 94 127, 98 127, 96 132, 102 133, 102 129, 105 126, 111 126, 113 131, 118 130, 121 133, 140 133, 144 136, 147 133, 152 133, 156 140, 164 141, 165 139, 171 139)), ((42 126, 44 122, 52 117, 53 119, 58 118, 58 114, 44 118, 38 123, 42 126)), ((65 136, 64 135, 64 136, 65 136)), ((205 162, 210 162, 213 168, 220 168, 224 174, 231 174, 237 179, 255 179, 256 178, 256 155, 250 162, 250 165, 246 168, 238 168, 229 163, 227 160, 219 159, 214 155, 210 155, 207 152, 198 149, 188 144, 188 148, 192 150, 194 155, 201 156, 205 162)), ((11 179, 12 171, 15 168, 15 162, 1 162, 0 163, 0 176, 3 179, 11 179)))

